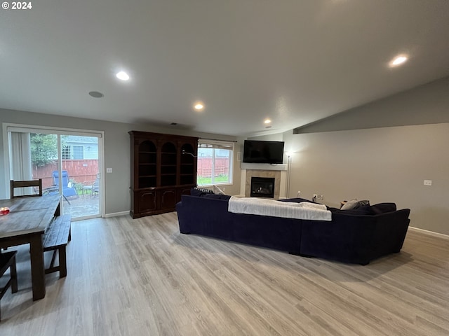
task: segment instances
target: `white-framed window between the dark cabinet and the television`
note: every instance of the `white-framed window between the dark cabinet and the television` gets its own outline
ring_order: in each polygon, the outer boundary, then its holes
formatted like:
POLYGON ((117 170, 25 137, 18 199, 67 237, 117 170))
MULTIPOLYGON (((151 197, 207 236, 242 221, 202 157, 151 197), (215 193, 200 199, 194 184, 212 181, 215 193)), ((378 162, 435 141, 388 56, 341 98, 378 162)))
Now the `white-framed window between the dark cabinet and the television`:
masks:
POLYGON ((196 183, 199 186, 232 183, 234 143, 200 139, 196 183))

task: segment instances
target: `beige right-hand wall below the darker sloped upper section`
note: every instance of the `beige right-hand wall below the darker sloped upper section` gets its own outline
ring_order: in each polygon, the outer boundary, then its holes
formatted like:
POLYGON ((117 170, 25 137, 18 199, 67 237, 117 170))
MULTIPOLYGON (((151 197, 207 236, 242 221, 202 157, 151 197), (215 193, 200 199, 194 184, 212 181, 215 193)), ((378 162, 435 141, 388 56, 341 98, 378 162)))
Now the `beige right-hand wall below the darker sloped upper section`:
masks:
POLYGON ((449 123, 283 134, 293 152, 290 197, 357 198, 409 208, 410 226, 449 235, 449 123), (424 179, 432 186, 424 186, 424 179))

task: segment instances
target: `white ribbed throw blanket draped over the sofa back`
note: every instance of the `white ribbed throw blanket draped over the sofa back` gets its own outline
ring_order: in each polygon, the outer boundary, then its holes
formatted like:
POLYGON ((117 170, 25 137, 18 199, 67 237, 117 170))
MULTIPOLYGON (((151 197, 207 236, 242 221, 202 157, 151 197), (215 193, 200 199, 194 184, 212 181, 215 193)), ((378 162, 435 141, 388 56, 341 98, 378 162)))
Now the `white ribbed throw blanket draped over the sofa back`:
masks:
POLYGON ((309 202, 279 202, 271 199, 232 196, 229 199, 228 211, 235 214, 332 221, 332 213, 327 210, 326 205, 309 202))

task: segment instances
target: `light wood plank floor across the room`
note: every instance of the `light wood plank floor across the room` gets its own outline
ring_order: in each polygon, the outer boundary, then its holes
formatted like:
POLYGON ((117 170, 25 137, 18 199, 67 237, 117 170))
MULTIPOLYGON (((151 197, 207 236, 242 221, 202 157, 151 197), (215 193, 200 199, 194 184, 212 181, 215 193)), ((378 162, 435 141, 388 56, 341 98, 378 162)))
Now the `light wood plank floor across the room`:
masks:
POLYGON ((449 335, 449 240, 411 230, 360 266, 180 235, 176 213, 98 218, 72 223, 67 264, 33 302, 20 248, 1 336, 449 335))

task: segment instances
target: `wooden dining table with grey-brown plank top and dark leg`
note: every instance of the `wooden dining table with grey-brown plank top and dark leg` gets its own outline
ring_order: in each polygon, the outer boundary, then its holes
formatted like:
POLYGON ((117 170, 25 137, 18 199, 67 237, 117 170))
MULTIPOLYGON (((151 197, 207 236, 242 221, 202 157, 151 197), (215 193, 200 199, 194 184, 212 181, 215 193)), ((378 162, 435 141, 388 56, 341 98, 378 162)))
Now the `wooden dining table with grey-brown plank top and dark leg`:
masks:
POLYGON ((0 200, 9 214, 0 215, 0 248, 29 244, 33 300, 45 297, 42 235, 60 215, 60 195, 0 200))

